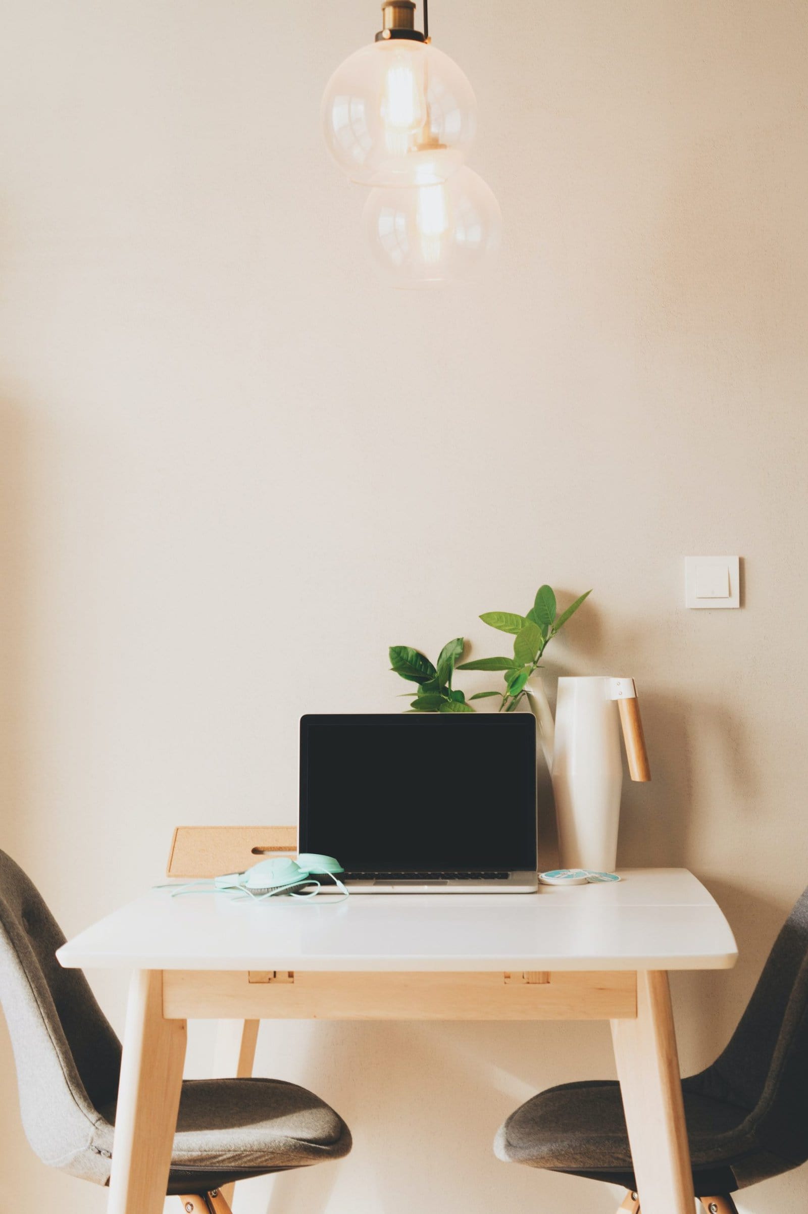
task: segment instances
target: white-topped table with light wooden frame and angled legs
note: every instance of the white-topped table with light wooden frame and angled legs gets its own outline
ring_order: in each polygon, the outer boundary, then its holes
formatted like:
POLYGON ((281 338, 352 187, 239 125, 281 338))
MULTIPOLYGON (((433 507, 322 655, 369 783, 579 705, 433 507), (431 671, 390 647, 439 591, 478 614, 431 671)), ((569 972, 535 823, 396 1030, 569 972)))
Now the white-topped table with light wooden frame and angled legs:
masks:
POLYGON ((693 1214, 668 970, 726 969, 733 934, 685 869, 537 895, 262 903, 153 890, 59 949, 132 970, 110 1214, 159 1214, 186 1020, 610 1020, 643 1214, 693 1214))

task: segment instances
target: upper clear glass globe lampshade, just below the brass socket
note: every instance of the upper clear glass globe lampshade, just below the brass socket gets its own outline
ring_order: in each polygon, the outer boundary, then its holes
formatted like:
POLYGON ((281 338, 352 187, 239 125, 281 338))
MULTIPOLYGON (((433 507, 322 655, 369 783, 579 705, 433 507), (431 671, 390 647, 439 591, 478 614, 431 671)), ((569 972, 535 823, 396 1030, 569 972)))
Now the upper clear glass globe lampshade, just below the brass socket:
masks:
POLYGON ((331 155, 364 186, 445 181, 474 138, 477 103, 457 64, 426 42, 363 46, 323 96, 331 155))

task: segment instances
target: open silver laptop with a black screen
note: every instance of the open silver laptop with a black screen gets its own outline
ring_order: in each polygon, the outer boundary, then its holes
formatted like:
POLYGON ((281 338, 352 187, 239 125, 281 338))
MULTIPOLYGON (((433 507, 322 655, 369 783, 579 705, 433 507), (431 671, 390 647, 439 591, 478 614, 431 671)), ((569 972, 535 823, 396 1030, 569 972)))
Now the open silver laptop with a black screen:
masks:
POLYGON ((353 894, 535 892, 535 719, 301 717, 298 846, 353 894))

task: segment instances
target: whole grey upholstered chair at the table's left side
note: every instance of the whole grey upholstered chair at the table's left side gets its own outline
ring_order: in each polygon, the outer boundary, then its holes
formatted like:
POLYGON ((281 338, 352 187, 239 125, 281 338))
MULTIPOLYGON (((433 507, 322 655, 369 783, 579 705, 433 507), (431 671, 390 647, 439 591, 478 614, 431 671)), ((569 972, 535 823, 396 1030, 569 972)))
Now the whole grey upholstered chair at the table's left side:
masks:
MULTIPOLYGON (((56 960, 63 943, 33 883, 0 852, 0 1002, 25 1134, 44 1163, 106 1185, 120 1043, 84 974, 56 960)), ((305 1088, 278 1079, 186 1080, 167 1193, 197 1214, 228 1214, 223 1185, 349 1150, 342 1118, 305 1088)))

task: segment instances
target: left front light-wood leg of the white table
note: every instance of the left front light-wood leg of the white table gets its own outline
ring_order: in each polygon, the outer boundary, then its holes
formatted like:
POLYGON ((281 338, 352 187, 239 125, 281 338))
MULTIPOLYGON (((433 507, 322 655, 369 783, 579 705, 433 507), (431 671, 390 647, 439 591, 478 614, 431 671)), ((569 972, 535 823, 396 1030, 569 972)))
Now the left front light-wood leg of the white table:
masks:
POLYGON ((163 974, 136 972, 126 1009, 109 1214, 163 1214, 184 1057, 184 1020, 163 1019, 163 974))

